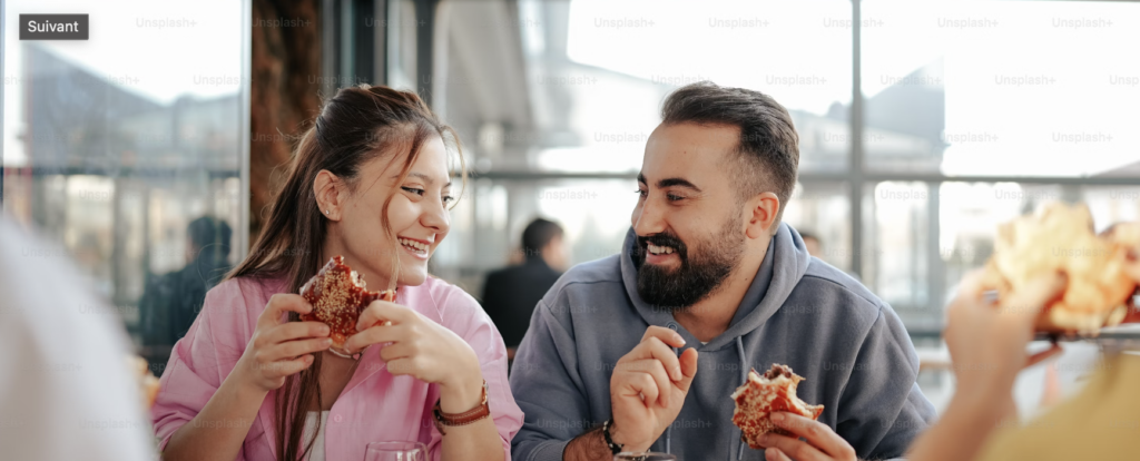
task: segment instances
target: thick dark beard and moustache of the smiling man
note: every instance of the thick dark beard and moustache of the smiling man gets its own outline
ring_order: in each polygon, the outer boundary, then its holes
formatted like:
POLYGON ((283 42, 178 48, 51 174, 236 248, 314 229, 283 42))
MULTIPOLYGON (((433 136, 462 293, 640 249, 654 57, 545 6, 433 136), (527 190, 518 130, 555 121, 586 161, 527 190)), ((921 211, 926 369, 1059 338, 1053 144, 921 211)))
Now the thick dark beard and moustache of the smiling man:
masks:
POLYGON ((743 257, 744 237, 731 219, 717 235, 690 246, 671 233, 638 236, 629 250, 637 269, 637 294, 643 301, 670 312, 684 310, 716 292, 743 257), (681 267, 667 269, 645 264, 648 243, 671 246, 681 267))

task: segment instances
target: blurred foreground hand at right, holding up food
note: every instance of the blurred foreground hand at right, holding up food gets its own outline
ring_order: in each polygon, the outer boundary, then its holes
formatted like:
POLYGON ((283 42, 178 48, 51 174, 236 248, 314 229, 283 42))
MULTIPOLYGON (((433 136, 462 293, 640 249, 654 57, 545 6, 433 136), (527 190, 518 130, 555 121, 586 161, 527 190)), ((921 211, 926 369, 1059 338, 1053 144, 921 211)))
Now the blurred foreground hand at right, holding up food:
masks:
POLYGON ((968 274, 946 308, 944 337, 950 348, 958 396, 1003 398, 1010 395, 1021 369, 1060 353, 1060 347, 1026 356, 1033 325, 1041 310, 1060 296, 1062 274, 1034 280, 999 301, 985 299, 982 272, 968 274))

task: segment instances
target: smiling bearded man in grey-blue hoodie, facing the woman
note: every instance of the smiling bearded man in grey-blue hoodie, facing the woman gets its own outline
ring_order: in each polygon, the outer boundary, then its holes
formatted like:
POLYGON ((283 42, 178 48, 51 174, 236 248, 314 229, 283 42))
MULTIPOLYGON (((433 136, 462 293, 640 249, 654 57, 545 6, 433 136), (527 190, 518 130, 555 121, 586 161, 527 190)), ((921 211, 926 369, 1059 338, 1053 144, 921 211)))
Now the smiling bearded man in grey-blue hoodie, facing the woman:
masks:
POLYGON ((788 111, 702 82, 673 92, 661 119, 622 251, 571 268, 530 320, 511 374, 526 413, 513 459, 903 455, 935 418, 918 356, 886 302, 781 224, 799 165, 788 111), (790 436, 752 450, 730 396, 774 363, 824 410, 779 413, 790 436))

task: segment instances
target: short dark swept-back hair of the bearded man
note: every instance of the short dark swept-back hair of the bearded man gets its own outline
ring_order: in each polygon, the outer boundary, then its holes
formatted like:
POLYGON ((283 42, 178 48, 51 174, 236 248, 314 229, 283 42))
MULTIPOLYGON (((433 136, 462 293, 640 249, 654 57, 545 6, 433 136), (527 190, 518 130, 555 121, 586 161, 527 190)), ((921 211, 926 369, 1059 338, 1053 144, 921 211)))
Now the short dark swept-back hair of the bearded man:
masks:
MULTIPOLYGON (((678 88, 665 99, 661 124, 697 123, 740 129, 739 156, 725 168, 740 185, 741 200, 764 192, 780 199, 776 223, 796 187, 799 135, 791 115, 771 96, 743 88, 697 82, 678 88)), ((775 229, 773 229, 774 232, 775 229)))

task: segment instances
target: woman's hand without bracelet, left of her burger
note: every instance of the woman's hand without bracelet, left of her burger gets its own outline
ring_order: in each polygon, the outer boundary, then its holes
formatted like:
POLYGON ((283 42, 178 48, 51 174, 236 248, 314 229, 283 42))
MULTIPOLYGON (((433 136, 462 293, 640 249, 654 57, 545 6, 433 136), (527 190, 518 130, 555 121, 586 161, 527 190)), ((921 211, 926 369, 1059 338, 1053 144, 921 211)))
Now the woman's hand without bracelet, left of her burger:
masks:
POLYGON ((308 314, 312 306, 299 294, 274 294, 258 317, 258 326, 237 361, 242 383, 262 393, 280 388, 285 378, 312 365, 312 353, 328 349, 328 325, 320 322, 282 322, 282 314, 308 314))

